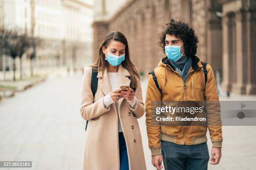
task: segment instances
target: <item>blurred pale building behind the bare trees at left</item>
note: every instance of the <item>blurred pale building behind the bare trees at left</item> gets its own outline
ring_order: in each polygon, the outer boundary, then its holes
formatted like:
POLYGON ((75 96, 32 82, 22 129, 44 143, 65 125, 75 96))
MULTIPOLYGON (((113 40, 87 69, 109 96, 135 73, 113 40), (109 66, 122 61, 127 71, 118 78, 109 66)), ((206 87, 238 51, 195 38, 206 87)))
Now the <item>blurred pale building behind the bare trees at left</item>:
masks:
MULTIPOLYGON (((83 68, 92 58, 93 0, 0 0, 0 16, 0 30, 18 28, 43 40, 34 67, 83 68)), ((5 65, 12 69, 8 56, 5 65)))

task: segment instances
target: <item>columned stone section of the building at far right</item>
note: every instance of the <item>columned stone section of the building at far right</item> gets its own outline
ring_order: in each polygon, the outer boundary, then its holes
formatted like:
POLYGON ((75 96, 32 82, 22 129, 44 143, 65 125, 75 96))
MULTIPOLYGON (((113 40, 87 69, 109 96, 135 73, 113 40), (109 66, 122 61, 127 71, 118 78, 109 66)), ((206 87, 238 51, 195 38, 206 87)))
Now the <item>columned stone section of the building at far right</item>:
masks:
POLYGON ((256 1, 219 2, 223 10, 223 89, 256 94, 256 1))

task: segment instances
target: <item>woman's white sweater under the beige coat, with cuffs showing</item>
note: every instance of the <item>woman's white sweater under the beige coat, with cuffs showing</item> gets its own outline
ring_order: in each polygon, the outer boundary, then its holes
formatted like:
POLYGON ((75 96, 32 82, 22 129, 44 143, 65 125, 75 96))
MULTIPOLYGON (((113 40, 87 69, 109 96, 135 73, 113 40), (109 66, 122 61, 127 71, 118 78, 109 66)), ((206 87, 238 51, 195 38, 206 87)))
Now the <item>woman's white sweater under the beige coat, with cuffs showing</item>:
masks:
MULTIPOLYGON (((109 80, 112 87, 112 90, 118 89, 118 72, 109 72, 109 80)), ((135 96, 133 97, 133 100, 127 100, 129 105, 131 107, 135 107, 136 100, 135 96)), ((110 97, 110 94, 104 96, 103 104, 105 108, 108 108, 114 101, 110 97)), ((118 100, 115 102, 116 109, 118 110, 118 100)), ((121 124, 120 124, 120 118, 118 115, 118 132, 123 132, 121 124)))

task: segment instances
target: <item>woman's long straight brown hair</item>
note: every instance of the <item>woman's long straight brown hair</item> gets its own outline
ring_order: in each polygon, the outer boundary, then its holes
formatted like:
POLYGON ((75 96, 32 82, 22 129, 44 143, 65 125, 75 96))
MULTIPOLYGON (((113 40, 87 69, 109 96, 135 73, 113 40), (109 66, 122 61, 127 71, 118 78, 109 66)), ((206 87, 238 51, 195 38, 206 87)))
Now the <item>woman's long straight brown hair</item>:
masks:
POLYGON ((105 48, 108 47, 110 40, 115 40, 122 42, 125 45, 125 60, 121 63, 122 66, 128 70, 128 72, 131 75, 131 88, 137 87, 138 83, 136 81, 136 77, 140 78, 135 66, 130 60, 130 52, 129 52, 129 47, 128 47, 128 42, 126 37, 118 31, 111 31, 108 32, 108 34, 105 36, 102 45, 100 46, 99 50, 99 55, 97 57, 97 60, 95 61, 94 64, 90 65, 93 69, 96 69, 98 71, 102 71, 102 76, 105 70, 109 70, 109 63, 107 60, 105 60, 105 54, 102 51, 102 46, 105 48))

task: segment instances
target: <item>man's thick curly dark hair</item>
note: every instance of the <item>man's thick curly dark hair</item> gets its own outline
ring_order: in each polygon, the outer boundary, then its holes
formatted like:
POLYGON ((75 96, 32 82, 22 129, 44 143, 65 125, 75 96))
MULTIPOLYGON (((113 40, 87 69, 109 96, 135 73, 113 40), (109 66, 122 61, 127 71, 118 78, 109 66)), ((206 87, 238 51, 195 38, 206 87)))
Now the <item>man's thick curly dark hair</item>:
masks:
MULTIPOLYGON (((186 55, 194 56, 197 53, 197 43, 199 42, 195 31, 187 23, 180 20, 174 21, 171 18, 170 23, 166 24, 165 30, 161 33, 159 46, 164 50, 166 34, 175 35, 184 42, 186 55)), ((165 52, 165 50, 164 50, 165 52)))

